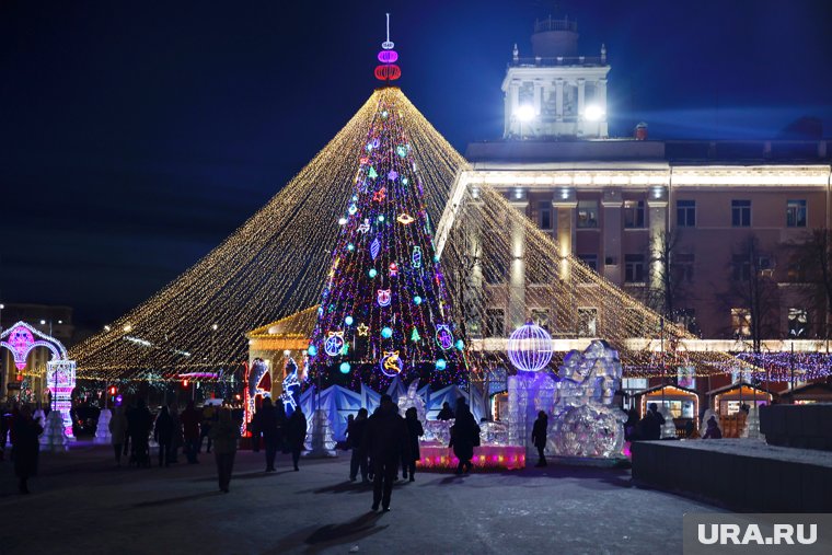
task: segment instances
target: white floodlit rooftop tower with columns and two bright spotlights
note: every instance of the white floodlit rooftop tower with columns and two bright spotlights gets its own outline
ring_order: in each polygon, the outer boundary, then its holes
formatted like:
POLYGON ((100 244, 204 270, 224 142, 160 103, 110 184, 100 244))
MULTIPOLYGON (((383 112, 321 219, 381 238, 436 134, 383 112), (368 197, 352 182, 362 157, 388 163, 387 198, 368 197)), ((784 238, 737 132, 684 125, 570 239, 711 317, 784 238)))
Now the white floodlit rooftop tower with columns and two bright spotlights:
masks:
POLYGON ((606 125, 606 48, 578 56, 578 23, 534 22, 531 58, 515 45, 502 92, 506 139, 603 139, 606 125))

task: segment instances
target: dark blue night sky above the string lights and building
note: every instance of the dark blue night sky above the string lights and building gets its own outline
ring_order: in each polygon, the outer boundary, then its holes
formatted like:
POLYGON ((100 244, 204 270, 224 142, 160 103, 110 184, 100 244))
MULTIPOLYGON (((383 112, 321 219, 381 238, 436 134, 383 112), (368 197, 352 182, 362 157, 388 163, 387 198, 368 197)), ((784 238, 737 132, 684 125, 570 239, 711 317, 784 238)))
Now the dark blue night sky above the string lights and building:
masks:
POLYGON ((461 152, 500 136, 511 46, 550 12, 606 43, 611 135, 832 129, 828 0, 4 0, 0 301, 99 327, 185 270, 367 100, 385 11, 402 89, 461 152))

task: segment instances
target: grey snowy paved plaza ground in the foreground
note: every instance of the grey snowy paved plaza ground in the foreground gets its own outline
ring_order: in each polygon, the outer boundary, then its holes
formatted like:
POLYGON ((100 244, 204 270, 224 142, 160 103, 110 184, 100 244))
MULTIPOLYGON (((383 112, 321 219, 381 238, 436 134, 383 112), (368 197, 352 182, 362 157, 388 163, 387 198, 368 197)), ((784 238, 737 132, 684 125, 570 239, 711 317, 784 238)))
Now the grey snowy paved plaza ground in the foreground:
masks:
POLYGON ((682 514, 719 510, 632 487, 628 471, 550 466, 417 474, 395 487, 391 512, 373 513, 370 489, 347 481, 346 455, 264 467, 263 453, 239 452, 223 495, 205 454, 198 465, 116 469, 109 446, 81 444, 42 453, 33 494, 21 496, 5 461, 0 553, 681 553, 682 514))

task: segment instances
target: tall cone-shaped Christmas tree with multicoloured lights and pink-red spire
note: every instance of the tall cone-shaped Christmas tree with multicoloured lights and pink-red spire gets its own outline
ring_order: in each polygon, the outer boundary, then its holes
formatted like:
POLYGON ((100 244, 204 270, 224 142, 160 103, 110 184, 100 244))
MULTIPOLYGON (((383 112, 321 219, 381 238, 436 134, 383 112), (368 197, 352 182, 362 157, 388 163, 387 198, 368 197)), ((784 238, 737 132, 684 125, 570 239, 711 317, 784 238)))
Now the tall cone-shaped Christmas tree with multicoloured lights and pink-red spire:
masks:
MULTIPOLYGON (((375 77, 398 79, 393 43, 382 44, 375 77)), ((402 95, 378 95, 366 140, 357 146, 354 194, 339 235, 309 346, 311 378, 321 384, 391 379, 459 382, 464 343, 457 337, 436 255, 419 167, 402 95)))

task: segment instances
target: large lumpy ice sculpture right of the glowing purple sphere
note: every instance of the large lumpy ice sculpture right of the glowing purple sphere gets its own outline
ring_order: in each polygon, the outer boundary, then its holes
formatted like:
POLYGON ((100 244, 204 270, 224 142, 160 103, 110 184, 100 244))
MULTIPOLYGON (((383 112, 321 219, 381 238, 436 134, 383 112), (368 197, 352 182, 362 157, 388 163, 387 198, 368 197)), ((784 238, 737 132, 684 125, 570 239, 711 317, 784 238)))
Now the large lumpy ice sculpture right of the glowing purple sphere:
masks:
POLYGON ((593 340, 583 352, 570 351, 558 371, 550 419, 548 448, 562 456, 620 456, 624 412, 612 401, 621 386, 619 354, 593 340))

